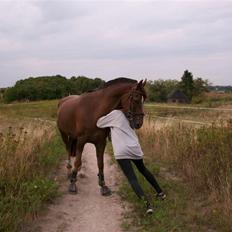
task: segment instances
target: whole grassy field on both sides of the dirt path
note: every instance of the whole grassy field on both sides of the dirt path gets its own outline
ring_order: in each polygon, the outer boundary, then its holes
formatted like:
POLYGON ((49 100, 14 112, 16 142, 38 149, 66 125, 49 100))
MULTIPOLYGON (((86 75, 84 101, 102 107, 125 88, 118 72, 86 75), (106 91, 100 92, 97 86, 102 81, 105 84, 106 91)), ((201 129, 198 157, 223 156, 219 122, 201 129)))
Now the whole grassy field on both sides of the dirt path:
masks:
MULTIPOLYGON (((0 104, 0 231, 19 230, 57 194, 51 171, 65 151, 55 129, 56 109, 57 101, 0 104)), ((156 200, 139 176, 155 205, 154 215, 146 217, 124 179, 119 192, 133 210, 122 227, 232 231, 232 112, 166 104, 147 104, 145 110, 138 136, 145 162, 168 197, 156 200)))

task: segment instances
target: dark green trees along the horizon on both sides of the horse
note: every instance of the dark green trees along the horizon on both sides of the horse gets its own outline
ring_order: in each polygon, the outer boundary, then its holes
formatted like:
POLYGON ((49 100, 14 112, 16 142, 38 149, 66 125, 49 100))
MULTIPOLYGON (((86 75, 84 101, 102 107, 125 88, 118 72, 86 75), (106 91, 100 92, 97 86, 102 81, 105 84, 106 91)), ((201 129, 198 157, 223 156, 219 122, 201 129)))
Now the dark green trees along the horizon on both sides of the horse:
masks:
MULTIPOLYGON (((13 87, 2 90, 1 96, 7 103, 59 99, 70 94, 79 95, 94 90, 104 82, 101 78, 92 79, 85 76, 73 76, 70 79, 61 75, 30 77, 19 80, 13 87)), ((194 78, 188 70, 184 71, 180 81, 160 79, 148 81, 146 85, 148 101, 155 102, 166 102, 168 94, 177 89, 183 91, 191 102, 194 99, 200 99, 208 88, 207 80, 194 78)))

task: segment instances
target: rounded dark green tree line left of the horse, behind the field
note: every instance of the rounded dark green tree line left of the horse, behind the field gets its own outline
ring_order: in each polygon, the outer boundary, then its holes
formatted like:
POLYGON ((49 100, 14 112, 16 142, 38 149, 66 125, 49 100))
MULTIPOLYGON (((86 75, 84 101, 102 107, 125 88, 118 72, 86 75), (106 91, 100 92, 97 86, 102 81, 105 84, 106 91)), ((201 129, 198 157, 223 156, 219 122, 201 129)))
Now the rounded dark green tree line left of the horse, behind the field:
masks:
POLYGON ((4 92, 4 101, 36 101, 59 99, 71 94, 82 94, 98 88, 104 83, 100 78, 91 79, 84 76, 43 76, 19 80, 4 92))

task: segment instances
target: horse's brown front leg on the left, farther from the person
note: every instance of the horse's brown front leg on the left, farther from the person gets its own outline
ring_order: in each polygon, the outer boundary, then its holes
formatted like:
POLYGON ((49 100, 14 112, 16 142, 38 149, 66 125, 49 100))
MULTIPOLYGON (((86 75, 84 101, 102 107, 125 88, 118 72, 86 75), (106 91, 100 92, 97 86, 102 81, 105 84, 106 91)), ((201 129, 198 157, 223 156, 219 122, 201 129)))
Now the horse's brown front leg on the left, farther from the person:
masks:
POLYGON ((70 185, 69 185, 69 192, 70 193, 77 193, 77 172, 81 169, 81 157, 83 152, 84 144, 77 144, 77 140, 75 140, 75 144, 73 144, 72 148, 72 156, 75 155, 75 161, 74 161, 74 168, 72 170, 71 176, 70 176, 70 185))

